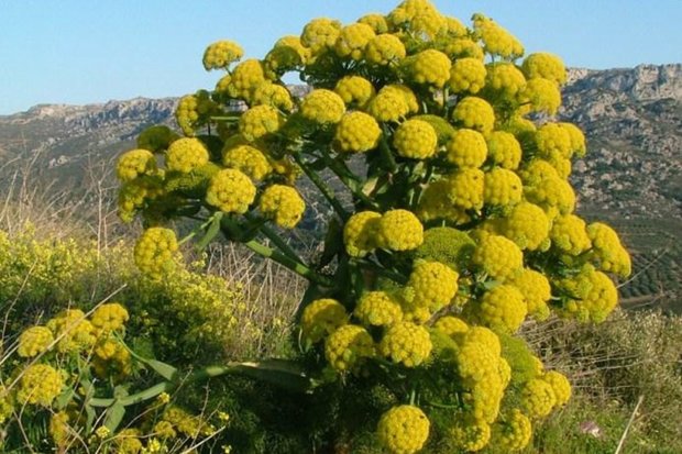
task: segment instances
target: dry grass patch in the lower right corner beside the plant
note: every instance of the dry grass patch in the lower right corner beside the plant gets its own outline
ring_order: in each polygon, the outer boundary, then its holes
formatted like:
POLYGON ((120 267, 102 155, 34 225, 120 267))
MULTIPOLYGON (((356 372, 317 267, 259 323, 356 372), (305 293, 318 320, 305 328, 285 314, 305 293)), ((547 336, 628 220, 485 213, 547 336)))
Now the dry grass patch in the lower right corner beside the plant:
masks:
POLYGON ((682 317, 616 310, 598 325, 529 323, 524 335, 547 367, 566 373, 581 396, 630 410, 641 397, 638 430, 682 440, 682 317))

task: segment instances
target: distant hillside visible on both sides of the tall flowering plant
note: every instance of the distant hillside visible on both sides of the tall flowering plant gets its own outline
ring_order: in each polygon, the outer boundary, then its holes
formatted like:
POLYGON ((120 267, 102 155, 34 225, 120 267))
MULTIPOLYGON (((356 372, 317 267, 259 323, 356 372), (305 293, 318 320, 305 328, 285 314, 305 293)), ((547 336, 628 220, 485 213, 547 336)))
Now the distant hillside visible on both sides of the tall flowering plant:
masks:
MULTIPOLYGON (((586 158, 573 166, 580 211, 608 215, 636 253, 638 274, 624 287, 626 301, 682 300, 682 65, 571 69, 569 76, 560 117, 580 125, 588 142, 586 158)), ((0 178, 33 160, 46 181, 77 184, 84 168, 112 160, 142 129, 173 125, 176 102, 41 104, 0 115, 0 178)))

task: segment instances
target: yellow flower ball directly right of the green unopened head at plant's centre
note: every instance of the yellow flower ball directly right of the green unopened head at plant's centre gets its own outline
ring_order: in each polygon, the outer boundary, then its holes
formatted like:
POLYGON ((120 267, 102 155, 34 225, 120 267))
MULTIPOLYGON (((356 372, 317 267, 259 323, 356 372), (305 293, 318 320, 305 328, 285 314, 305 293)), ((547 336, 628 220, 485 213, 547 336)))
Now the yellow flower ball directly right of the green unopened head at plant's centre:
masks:
POLYGON ((505 280, 524 266, 524 253, 512 240, 502 235, 484 235, 472 256, 491 277, 505 280))

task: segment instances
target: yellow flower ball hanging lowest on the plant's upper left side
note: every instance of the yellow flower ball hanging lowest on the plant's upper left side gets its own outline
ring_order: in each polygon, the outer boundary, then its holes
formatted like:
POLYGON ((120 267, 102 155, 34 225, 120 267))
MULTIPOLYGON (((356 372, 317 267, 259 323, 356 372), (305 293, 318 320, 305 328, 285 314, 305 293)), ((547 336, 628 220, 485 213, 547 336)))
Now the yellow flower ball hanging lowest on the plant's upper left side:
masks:
POLYGON ((153 279, 161 279, 175 267, 178 251, 175 232, 170 229, 150 228, 135 243, 133 257, 138 268, 153 279))

